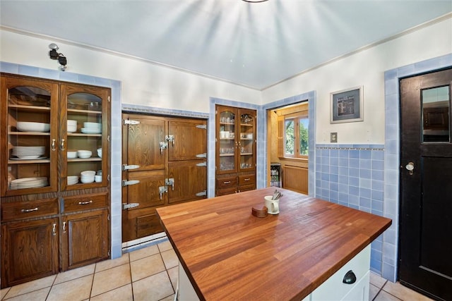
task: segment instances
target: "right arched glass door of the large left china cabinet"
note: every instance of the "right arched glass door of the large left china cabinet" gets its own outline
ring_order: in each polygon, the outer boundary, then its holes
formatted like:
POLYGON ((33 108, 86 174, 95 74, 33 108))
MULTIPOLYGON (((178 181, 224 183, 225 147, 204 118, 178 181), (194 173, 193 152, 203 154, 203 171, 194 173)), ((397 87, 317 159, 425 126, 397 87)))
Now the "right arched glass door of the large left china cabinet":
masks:
POLYGON ((61 190, 107 185, 108 91, 61 85, 61 190))

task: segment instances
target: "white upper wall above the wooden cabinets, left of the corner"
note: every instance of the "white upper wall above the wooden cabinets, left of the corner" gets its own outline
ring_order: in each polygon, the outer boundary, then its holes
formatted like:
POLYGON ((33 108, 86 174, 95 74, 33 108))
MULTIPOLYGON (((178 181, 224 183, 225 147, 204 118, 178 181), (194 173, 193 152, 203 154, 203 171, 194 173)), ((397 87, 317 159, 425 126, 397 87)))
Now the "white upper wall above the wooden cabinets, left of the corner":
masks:
POLYGON ((57 61, 49 59, 48 45, 53 42, 68 59, 66 72, 120 80, 123 104, 208 113, 209 97, 261 103, 257 90, 6 29, 0 30, 0 61, 57 70, 57 61))

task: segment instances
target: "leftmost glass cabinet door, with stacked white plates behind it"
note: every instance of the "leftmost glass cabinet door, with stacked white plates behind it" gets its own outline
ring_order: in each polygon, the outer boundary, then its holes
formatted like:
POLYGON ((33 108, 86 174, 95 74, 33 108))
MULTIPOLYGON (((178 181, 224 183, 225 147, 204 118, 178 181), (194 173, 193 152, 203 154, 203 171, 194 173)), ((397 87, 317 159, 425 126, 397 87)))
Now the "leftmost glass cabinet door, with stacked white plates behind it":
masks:
POLYGON ((57 190, 57 92, 53 83, 1 78, 1 195, 57 190))

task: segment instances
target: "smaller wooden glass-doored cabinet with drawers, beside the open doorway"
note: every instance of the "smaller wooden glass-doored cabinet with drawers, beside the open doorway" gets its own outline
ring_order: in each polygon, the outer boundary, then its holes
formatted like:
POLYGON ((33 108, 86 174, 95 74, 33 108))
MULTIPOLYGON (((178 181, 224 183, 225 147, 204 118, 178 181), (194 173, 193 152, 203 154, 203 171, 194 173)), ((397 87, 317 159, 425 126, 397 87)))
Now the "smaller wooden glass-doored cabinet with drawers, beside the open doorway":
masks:
POLYGON ((216 106, 215 195, 256 189, 256 111, 216 106))

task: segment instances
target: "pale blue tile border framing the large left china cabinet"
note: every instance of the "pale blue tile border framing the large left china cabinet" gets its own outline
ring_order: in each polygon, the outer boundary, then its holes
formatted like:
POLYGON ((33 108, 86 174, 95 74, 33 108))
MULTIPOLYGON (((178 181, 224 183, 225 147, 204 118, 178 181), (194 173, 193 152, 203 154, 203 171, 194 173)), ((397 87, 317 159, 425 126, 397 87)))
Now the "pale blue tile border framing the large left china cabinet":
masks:
MULTIPOLYGON (((46 78, 52 80, 62 80, 76 82, 88 85, 97 85, 109 87, 112 90, 112 133, 120 133, 121 126, 121 82, 118 80, 109 80, 107 78, 97 78, 95 76, 80 75, 67 71, 51 70, 24 66, 16 63, 6 63, 0 61, 0 72, 12 73, 18 75, 34 76, 35 78, 46 78)), ((112 135, 112 169, 110 171, 112 203, 110 208, 111 215, 111 242, 110 252, 112 259, 122 255, 121 238, 121 135, 112 135), (117 164, 115 164, 117 162, 117 164)))

